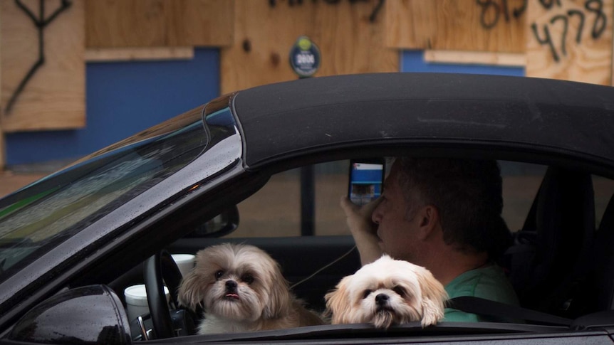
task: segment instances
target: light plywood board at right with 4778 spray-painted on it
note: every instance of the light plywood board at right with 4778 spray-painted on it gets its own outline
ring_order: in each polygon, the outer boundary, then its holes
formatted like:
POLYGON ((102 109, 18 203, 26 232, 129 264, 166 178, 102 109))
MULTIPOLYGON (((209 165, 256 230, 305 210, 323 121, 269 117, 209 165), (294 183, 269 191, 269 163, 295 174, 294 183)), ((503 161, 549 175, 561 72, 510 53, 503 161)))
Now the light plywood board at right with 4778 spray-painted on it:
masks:
POLYGON ((526 75, 610 85, 613 0, 529 3, 526 75))

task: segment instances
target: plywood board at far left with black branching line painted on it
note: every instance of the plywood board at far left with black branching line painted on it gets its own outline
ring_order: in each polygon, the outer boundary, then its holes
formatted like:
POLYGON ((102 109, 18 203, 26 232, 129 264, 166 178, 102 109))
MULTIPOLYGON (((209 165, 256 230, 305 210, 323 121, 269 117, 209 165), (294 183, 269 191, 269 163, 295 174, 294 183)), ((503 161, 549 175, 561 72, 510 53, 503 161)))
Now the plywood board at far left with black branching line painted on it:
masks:
MULTIPOLYGON (((39 1, 21 1, 40 16, 39 1)), ((45 1, 45 18, 61 1, 45 1)), ((1 123, 4 132, 72 129, 85 125, 83 0, 71 1, 44 29, 44 63, 26 83, 10 112, 7 104, 38 60, 38 31, 15 1, 0 1, 1 123)))

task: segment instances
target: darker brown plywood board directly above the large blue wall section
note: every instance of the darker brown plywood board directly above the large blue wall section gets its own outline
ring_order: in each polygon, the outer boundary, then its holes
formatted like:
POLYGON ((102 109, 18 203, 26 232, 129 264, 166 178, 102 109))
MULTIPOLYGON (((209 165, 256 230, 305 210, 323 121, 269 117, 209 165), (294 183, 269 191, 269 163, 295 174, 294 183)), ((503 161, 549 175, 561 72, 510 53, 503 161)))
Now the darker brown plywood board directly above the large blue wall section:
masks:
POLYGON ((227 46, 232 0, 84 0, 88 48, 227 46))

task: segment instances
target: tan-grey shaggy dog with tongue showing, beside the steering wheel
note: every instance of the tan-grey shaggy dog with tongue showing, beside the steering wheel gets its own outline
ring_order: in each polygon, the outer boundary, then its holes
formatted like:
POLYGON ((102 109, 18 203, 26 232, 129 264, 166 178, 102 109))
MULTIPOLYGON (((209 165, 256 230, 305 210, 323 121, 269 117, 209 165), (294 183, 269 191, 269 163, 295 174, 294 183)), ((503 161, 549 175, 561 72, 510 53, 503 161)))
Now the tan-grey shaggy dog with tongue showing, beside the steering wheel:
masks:
POLYGON ((204 308, 199 334, 323 323, 290 292, 279 264, 253 245, 225 243, 200 250, 179 287, 179 304, 204 308))

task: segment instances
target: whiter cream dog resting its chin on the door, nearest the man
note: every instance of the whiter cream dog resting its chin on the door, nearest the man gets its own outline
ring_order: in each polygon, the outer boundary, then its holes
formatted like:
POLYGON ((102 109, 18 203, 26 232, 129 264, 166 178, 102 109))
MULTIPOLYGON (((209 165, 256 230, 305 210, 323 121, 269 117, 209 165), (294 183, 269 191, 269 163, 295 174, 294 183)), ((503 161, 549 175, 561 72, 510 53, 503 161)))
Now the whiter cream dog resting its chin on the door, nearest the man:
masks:
POLYGON ((437 324, 447 298, 425 267, 387 255, 344 277, 325 296, 333 324, 369 322, 378 328, 415 321, 422 327, 437 324))

